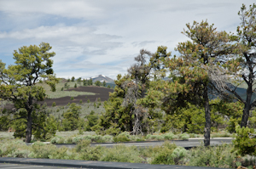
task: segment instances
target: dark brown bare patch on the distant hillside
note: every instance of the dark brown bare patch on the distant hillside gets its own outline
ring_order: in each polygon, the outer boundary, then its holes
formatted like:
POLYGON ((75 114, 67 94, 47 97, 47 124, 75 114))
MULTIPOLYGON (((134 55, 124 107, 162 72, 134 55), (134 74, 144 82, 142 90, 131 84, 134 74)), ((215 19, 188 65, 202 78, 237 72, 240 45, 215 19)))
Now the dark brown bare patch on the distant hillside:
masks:
MULTIPOLYGON (((39 104, 46 103, 48 106, 51 106, 53 102, 57 106, 67 105, 68 103, 76 103, 79 104, 79 101, 82 99, 83 103, 87 102, 90 99, 90 102, 95 102, 97 99, 101 99, 102 101, 106 101, 109 98, 109 93, 113 93, 113 89, 106 87, 77 87, 77 88, 69 88, 67 91, 78 91, 78 92, 90 92, 96 93, 96 95, 79 95, 77 97, 73 97, 73 100, 70 97, 63 97, 58 99, 45 99, 43 102, 39 102, 39 104)), ((13 107, 12 104, 6 104, 5 108, 11 109, 13 107)))

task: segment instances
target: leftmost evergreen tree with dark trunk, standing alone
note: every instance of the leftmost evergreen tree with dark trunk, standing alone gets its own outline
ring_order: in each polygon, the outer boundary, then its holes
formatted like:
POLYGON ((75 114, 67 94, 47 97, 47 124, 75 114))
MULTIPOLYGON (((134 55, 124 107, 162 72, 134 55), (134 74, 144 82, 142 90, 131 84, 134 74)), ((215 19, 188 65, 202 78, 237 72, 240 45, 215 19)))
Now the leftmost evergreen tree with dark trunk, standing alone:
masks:
POLYGON ((36 85, 37 82, 47 78, 47 83, 55 91, 57 80, 53 75, 51 59, 55 53, 49 52, 50 49, 49 43, 45 42, 39 46, 23 46, 18 51, 15 50, 15 65, 9 65, 8 68, 0 60, 0 98, 14 103, 13 120, 25 119, 26 143, 32 139, 32 129, 42 129, 44 126, 35 121, 38 115, 44 114, 38 101, 43 101, 46 97, 44 87, 36 85))

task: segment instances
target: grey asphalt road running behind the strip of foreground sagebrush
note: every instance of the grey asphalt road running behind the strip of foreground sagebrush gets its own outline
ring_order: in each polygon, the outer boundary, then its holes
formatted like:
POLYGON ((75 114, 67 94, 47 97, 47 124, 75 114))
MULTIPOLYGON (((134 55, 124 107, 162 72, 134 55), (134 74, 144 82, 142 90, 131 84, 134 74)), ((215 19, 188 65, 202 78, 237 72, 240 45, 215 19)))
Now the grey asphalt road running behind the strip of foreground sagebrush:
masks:
MULTIPOLYGON (((230 144, 233 138, 211 138, 211 145, 219 144, 230 144)), ((203 144, 203 138, 189 138, 189 140, 172 140, 171 143, 177 144, 185 149, 190 149, 192 147, 197 147, 203 144)), ((125 143, 106 143, 106 144, 90 144, 91 146, 101 145, 105 147, 113 147, 119 144, 125 144, 126 146, 137 146, 137 147, 150 147, 159 146, 164 144, 165 141, 147 141, 147 142, 125 142, 125 143)), ((73 148, 76 144, 56 144, 57 147, 66 146, 67 148, 73 148)))

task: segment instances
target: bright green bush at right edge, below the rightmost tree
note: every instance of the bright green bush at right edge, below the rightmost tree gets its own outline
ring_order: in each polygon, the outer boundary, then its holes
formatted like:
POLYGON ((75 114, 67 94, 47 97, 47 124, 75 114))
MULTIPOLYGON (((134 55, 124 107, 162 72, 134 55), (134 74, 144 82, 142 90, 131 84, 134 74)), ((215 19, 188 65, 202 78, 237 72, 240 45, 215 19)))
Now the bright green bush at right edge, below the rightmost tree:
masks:
POLYGON ((256 137, 250 138, 253 128, 236 126, 236 139, 233 140, 238 155, 256 155, 256 137))

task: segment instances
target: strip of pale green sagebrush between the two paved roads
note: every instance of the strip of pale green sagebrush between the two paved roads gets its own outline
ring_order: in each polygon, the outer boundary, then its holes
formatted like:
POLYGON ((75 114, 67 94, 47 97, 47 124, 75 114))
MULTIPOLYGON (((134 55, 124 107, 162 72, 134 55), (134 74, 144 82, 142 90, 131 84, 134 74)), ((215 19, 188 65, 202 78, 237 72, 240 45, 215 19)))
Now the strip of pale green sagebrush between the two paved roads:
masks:
POLYGON ((134 146, 119 144, 113 148, 90 146, 90 141, 80 140, 73 149, 66 147, 56 148, 54 144, 36 142, 27 146, 21 141, 14 140, 0 144, 1 157, 44 158, 84 161, 115 161, 148 164, 167 164, 185 166, 210 166, 222 168, 236 168, 247 166, 253 168, 252 157, 236 158, 230 154, 232 144, 223 144, 215 147, 198 147, 183 149, 176 144, 166 142, 163 146, 137 149, 134 146))

